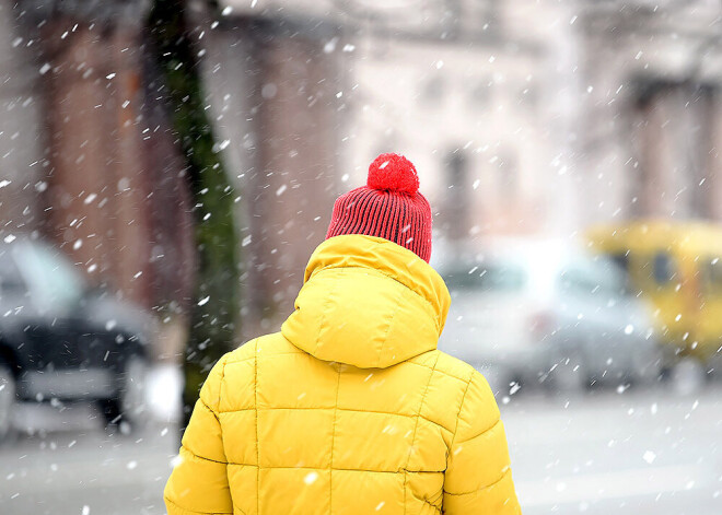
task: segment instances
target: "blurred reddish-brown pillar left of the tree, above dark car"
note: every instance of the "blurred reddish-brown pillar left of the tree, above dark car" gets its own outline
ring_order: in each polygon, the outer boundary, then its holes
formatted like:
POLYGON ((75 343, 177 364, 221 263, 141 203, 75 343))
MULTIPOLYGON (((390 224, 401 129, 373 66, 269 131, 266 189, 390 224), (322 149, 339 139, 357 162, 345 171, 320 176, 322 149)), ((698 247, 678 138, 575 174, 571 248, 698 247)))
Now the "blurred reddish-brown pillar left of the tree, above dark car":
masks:
POLYGON ((90 277, 150 307, 139 33, 58 17, 43 30, 48 235, 90 277), (74 27, 74 30, 73 30, 74 27), (69 33, 65 38, 62 34, 69 33))

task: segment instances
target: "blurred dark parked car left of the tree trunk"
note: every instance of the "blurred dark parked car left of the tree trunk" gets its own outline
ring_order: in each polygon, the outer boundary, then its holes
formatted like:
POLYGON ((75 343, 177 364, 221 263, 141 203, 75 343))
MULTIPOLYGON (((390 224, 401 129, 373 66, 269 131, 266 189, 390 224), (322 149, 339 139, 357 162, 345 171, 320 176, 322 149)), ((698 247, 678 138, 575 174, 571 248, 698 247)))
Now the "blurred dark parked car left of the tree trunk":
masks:
POLYGON ((88 288, 39 242, 0 245, 0 440, 19 401, 98 401, 108 423, 142 409, 152 318, 88 288))

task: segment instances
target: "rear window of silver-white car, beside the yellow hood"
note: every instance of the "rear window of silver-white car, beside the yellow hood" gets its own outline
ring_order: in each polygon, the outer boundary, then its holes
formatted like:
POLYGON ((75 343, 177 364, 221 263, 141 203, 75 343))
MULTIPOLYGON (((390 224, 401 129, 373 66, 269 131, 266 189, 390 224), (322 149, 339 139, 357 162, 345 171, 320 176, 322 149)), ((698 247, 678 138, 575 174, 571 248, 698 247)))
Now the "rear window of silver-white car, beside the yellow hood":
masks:
POLYGON ((527 282, 526 271, 516 265, 479 265, 459 268, 444 277, 452 291, 520 291, 527 282))

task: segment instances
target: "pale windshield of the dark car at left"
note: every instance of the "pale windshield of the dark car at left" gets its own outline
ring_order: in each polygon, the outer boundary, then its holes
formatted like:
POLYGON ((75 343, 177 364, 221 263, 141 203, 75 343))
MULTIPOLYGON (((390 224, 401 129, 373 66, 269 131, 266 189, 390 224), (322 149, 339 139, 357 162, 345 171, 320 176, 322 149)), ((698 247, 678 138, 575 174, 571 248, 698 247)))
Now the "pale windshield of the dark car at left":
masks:
POLYGON ((25 245, 19 257, 38 305, 71 307, 82 296, 84 283, 63 256, 40 245, 25 245))

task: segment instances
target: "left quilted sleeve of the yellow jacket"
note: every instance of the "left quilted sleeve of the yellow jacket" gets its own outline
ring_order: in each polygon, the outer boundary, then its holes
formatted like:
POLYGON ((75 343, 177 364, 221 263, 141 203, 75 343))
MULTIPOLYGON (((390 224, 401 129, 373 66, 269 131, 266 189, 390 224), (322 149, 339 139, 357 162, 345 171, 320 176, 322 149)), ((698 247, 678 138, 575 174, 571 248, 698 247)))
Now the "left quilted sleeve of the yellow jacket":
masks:
POLYGON ((225 359, 211 370, 163 494, 168 515, 232 514, 218 407, 225 359))

